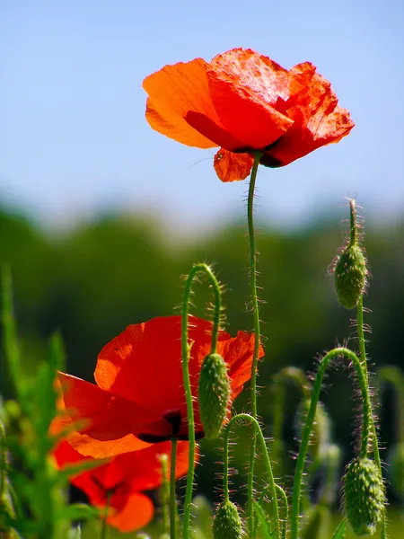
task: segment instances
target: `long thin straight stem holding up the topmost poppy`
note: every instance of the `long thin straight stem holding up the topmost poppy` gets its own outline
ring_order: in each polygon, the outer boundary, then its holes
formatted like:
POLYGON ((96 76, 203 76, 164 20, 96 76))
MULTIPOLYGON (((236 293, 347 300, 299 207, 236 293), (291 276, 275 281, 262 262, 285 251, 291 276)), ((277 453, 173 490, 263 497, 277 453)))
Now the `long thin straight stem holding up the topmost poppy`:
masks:
MULTIPOLYGON (((251 287, 251 302, 252 314, 254 319, 254 353, 251 364, 251 414, 254 419, 257 418, 257 362, 259 357, 259 301, 257 296, 257 251, 255 247, 255 232, 254 232, 254 190, 255 181, 257 179, 257 171, 259 160, 262 156, 261 152, 254 154, 254 163, 252 165, 250 175, 249 196, 247 200, 247 221, 249 226, 249 243, 250 243, 250 287, 251 287)), ((250 469, 248 480, 248 517, 249 531, 251 539, 254 537, 254 518, 253 518, 253 499, 254 499, 254 461, 255 461, 255 435, 251 439, 250 447, 250 469)))

